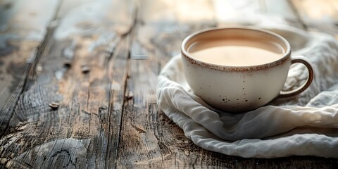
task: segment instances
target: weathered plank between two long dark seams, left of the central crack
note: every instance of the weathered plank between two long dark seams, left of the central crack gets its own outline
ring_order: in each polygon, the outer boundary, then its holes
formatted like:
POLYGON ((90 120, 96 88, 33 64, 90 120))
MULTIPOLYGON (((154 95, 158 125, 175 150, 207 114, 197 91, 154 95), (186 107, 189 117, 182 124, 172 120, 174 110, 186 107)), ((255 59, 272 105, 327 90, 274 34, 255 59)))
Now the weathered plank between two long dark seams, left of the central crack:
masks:
POLYGON ((0 167, 114 168, 130 46, 125 34, 134 17, 130 3, 61 4, 1 137, 0 167))

